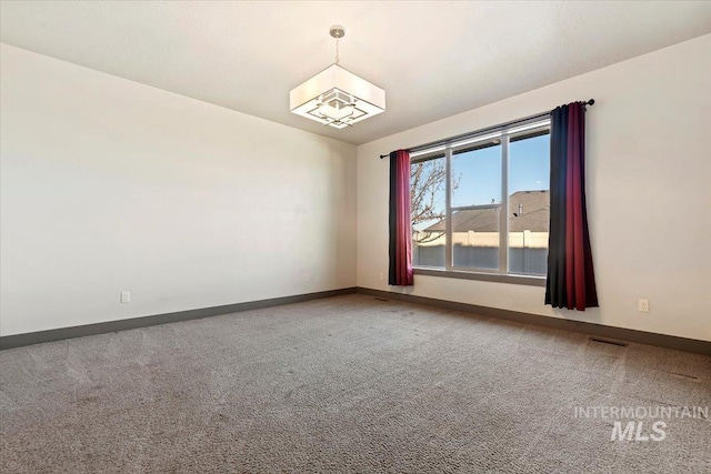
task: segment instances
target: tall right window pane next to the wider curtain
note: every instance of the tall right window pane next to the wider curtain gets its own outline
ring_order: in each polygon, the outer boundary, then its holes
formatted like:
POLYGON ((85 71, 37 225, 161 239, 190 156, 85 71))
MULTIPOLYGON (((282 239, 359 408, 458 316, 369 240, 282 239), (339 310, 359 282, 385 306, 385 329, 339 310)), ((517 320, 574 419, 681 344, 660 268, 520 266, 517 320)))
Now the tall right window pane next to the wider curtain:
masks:
POLYGON ((550 137, 509 143, 509 272, 542 275, 548 266, 550 137))

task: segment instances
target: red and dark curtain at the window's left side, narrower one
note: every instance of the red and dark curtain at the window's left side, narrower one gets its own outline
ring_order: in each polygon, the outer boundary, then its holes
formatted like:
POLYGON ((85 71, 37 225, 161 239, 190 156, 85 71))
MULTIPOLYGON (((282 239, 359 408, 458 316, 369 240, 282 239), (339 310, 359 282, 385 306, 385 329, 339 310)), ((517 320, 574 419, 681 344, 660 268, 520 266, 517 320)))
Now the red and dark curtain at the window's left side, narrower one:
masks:
POLYGON ((410 231, 410 153, 390 153, 390 268, 388 284, 408 286, 412 275, 412 233, 410 231))

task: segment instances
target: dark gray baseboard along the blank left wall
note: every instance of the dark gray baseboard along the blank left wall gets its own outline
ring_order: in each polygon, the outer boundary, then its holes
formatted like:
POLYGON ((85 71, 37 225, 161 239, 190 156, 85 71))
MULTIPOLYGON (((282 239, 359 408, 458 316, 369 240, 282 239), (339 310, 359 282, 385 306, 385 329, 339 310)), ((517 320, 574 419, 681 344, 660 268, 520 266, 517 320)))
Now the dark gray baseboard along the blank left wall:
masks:
POLYGON ((301 303, 321 297, 340 296, 356 293, 357 289, 320 291, 317 293, 297 294, 293 296, 273 297, 270 300, 248 301, 244 303, 226 304, 223 306, 202 307, 199 310, 178 311, 176 313, 157 314, 153 316, 131 317, 128 320, 108 321, 106 323, 84 324, 81 326, 60 327, 57 330, 38 331, 24 334, 6 335, 0 337, 0 350, 21 347, 23 345, 42 342, 61 341, 64 339, 83 337, 87 335, 106 334, 116 331, 133 330, 156 324, 174 323, 178 321, 197 320, 217 316, 219 314, 238 313, 240 311, 258 310, 260 307, 279 306, 282 304, 301 303))

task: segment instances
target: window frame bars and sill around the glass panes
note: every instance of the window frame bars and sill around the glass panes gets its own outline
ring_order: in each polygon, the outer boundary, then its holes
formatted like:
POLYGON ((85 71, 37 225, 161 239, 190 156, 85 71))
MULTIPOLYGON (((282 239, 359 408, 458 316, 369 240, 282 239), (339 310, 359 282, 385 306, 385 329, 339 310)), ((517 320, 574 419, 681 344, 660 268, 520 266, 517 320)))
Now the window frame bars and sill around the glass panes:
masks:
POLYGON ((454 137, 449 140, 434 142, 431 144, 411 149, 410 167, 415 163, 425 162, 433 159, 444 159, 445 184, 444 184, 444 266, 414 266, 414 274, 428 276, 445 276, 464 280, 480 280, 499 283, 514 283, 533 286, 545 286, 545 275, 511 273, 509 271, 509 144, 512 141, 525 140, 529 138, 550 134, 550 117, 534 115, 502 125, 480 130, 473 133, 454 137), (498 140, 495 145, 501 147, 501 202, 500 204, 475 204, 452 206, 452 158, 455 153, 473 151, 485 144, 498 140), (455 266, 453 262, 453 220, 452 216, 458 211, 473 209, 492 209, 500 206, 499 211, 499 268, 468 268, 455 266))

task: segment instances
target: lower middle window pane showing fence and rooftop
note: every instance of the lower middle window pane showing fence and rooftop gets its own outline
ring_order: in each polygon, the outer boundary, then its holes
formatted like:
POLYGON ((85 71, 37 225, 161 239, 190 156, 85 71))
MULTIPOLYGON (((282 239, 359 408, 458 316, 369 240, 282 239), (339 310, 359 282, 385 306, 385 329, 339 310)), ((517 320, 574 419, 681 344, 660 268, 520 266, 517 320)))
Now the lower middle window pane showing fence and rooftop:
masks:
POLYGON ((499 269, 500 206, 452 213, 454 266, 499 269))

